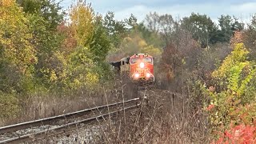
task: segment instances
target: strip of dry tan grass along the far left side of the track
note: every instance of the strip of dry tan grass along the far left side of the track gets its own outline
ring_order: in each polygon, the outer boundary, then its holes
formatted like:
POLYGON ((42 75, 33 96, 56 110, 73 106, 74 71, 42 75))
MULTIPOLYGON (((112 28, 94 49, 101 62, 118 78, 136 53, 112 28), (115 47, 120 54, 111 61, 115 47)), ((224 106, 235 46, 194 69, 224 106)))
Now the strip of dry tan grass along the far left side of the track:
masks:
POLYGON ((115 80, 112 83, 98 86, 94 90, 66 90, 65 93, 50 93, 38 90, 33 94, 20 95, 17 98, 18 114, 8 118, 0 118, 0 126, 48 118, 108 103, 120 102, 130 98, 137 98, 137 94, 134 87, 127 81, 127 78, 119 78, 119 80, 115 80))

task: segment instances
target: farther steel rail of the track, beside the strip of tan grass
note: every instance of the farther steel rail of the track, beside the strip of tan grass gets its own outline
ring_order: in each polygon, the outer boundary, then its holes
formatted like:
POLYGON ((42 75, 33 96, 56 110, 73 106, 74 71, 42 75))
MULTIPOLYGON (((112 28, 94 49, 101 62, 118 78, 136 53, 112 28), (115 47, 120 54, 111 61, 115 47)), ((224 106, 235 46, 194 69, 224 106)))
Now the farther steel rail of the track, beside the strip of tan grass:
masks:
POLYGON ((117 103, 112 103, 109 105, 105 105, 105 106, 96 106, 94 108, 91 109, 86 109, 86 110, 79 110, 79 111, 75 111, 69 114, 62 114, 62 115, 58 115, 58 116, 54 116, 54 117, 50 117, 50 118, 42 118, 42 119, 38 119, 38 120, 34 120, 34 121, 30 121, 30 122, 22 122, 22 123, 18 123, 18 124, 14 124, 14 125, 10 125, 10 126, 3 126, 0 127, 0 134, 4 134, 4 133, 8 133, 8 132, 14 132, 17 130, 24 130, 24 129, 28 129, 34 126, 43 126, 43 125, 48 125, 51 122, 55 121, 55 120, 62 120, 62 119, 66 119, 66 118, 72 118, 74 116, 82 116, 84 114, 89 114, 91 111, 94 110, 102 110, 102 109, 106 109, 106 107, 114 107, 114 106, 118 106, 121 104, 126 104, 129 102, 136 102, 138 101, 139 98, 134 98, 134 99, 130 99, 127 101, 123 101, 123 102, 117 102, 117 103))

